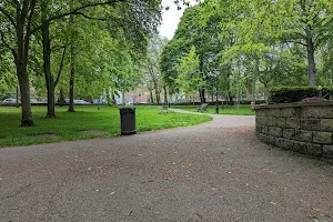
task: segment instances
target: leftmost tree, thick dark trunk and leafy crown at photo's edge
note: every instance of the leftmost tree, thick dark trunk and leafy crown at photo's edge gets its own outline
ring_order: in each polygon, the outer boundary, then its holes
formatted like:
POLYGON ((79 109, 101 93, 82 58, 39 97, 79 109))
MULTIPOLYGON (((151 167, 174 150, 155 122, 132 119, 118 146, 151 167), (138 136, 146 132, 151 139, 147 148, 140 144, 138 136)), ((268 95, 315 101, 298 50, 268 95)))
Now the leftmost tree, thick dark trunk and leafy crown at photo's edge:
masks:
POLYGON ((31 36, 36 32, 36 0, 0 3, 1 41, 12 53, 21 92, 21 125, 34 125, 30 103, 28 60, 31 36))

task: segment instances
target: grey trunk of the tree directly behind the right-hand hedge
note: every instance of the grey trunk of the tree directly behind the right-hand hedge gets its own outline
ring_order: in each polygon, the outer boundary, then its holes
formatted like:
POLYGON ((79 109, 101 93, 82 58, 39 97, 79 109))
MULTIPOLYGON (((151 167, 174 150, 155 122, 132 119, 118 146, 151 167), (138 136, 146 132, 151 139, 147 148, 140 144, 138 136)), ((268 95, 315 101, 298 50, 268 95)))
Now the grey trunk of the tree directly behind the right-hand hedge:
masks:
POLYGON ((315 61, 314 61, 314 44, 313 37, 311 33, 311 26, 305 28, 306 33, 306 51, 307 51, 307 63, 309 63, 309 85, 315 85, 315 61))

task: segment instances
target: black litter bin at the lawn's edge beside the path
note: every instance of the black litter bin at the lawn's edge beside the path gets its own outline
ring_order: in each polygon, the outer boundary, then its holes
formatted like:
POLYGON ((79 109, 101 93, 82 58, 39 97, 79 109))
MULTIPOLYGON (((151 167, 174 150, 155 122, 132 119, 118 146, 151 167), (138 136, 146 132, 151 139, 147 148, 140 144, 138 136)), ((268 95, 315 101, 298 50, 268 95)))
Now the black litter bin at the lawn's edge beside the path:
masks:
POLYGON ((137 134, 135 108, 121 108, 119 110, 120 110, 121 134, 122 135, 137 134))

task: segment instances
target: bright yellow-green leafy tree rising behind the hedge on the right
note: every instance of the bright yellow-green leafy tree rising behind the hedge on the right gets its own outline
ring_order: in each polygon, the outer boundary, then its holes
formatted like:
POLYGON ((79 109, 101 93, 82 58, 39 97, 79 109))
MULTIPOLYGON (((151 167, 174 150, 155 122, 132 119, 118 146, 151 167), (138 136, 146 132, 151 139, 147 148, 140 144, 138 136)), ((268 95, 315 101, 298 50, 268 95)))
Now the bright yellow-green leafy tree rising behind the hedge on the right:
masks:
POLYGON ((330 1, 209 1, 206 4, 232 18, 221 24, 236 36, 233 51, 252 52, 260 60, 262 53, 276 42, 301 46, 307 59, 309 84, 315 84, 315 52, 332 33, 330 1))

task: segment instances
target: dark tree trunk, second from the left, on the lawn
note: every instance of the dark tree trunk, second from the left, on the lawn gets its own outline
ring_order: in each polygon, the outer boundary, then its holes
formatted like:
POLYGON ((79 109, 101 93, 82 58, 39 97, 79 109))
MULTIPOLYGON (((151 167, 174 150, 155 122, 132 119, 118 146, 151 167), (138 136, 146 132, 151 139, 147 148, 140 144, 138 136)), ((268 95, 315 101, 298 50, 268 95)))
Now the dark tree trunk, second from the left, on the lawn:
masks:
MULTIPOLYGON (((42 14, 43 14, 42 21, 46 21, 47 20, 46 14, 44 13, 42 14)), ((48 93, 48 112, 46 118, 56 118, 54 81, 51 73, 50 23, 43 22, 41 31, 42 31, 42 43, 43 43, 43 69, 44 69, 47 93, 48 93)))

